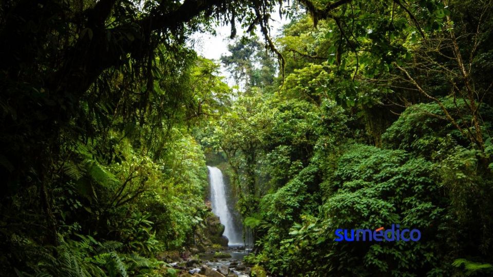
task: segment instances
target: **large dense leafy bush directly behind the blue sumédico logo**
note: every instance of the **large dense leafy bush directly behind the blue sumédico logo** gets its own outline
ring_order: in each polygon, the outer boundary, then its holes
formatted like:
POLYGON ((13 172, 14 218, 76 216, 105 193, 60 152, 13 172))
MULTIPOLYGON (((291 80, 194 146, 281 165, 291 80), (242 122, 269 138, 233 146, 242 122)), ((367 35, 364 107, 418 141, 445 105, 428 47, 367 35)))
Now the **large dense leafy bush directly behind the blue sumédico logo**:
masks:
POLYGON ((437 266, 440 257, 434 247, 439 242, 433 241, 432 234, 442 224, 443 208, 430 170, 431 163, 409 158, 403 151, 363 145, 349 148, 340 158, 333 187, 329 188, 336 193, 324 205, 324 213, 331 216, 326 222, 330 224, 327 232, 334 228, 374 229, 398 223, 402 229, 419 229, 423 238, 428 234, 431 237, 414 244, 366 245, 362 246, 365 250, 357 250, 359 254, 352 252, 356 249, 338 254, 338 249, 345 245, 336 244, 334 261, 343 261, 348 255, 353 259, 343 268, 362 263, 363 270, 374 268, 396 276, 424 273, 437 266))

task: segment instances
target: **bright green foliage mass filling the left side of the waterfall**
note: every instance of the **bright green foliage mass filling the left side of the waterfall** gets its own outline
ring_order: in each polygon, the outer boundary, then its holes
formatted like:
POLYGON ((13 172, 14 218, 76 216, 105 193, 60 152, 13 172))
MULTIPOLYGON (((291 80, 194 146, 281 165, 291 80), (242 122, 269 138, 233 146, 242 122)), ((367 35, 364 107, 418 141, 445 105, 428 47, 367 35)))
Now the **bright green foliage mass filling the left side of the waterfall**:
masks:
MULTIPOLYGON (((25 156, 27 164, 32 162, 29 176, 11 175, 9 184, 25 182, 9 190, 0 205, 2 245, 11 249, 2 254, 2 270, 55 276, 151 274, 157 265, 149 261, 160 251, 193 244, 197 219, 207 213, 207 171, 191 127, 218 112, 231 90, 213 62, 194 60, 195 53, 182 46, 160 50, 151 67, 151 91, 139 76, 108 72, 71 104, 77 109, 56 138, 39 137, 50 142, 40 143, 47 152, 25 156), (135 82, 128 83, 130 77, 135 82), (98 97, 91 96, 96 92, 98 97), (121 97, 112 97, 117 94, 121 97), (45 155, 49 159, 36 160, 45 155), (18 224, 8 230, 5 222, 18 224), (117 241, 118 252, 102 255, 75 243, 50 247, 54 238, 70 242, 76 234, 117 241), (29 252, 32 247, 44 254, 29 252), (77 274, 67 273, 70 268, 77 274)), ((46 127, 51 120, 40 124, 46 127)))

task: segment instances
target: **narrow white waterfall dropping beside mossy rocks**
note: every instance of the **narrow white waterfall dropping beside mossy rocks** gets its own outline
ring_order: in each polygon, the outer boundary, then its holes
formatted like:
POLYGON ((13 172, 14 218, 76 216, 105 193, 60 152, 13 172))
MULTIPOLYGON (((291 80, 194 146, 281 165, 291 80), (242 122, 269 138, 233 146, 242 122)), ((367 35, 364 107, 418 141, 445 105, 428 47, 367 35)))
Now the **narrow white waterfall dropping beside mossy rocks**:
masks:
POLYGON ((224 235, 229 240, 229 245, 242 245, 241 234, 236 230, 233 216, 226 202, 226 191, 224 189, 224 179, 219 168, 207 166, 209 169, 209 181, 211 183, 211 203, 212 212, 219 216, 219 220, 224 225, 224 235))

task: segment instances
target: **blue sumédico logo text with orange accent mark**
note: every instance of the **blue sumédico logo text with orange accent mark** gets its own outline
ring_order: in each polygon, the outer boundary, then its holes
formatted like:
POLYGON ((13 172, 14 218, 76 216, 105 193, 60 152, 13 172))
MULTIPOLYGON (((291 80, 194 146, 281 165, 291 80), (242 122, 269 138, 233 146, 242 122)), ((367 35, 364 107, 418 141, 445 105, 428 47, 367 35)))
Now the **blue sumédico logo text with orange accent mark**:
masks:
POLYGON ((394 241, 413 241, 417 242, 421 239, 421 232, 418 229, 400 229, 399 224, 392 224, 390 229, 385 230, 384 227, 380 227, 376 230, 370 229, 337 229, 335 230, 336 242, 394 242, 394 241))

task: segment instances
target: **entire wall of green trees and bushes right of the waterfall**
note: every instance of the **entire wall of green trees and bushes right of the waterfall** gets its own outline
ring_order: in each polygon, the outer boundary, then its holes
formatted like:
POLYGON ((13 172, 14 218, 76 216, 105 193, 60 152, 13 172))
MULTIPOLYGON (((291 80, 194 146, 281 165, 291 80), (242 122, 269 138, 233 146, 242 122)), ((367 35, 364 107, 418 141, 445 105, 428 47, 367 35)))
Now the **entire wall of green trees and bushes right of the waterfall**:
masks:
POLYGON ((222 118, 266 124, 214 137, 260 198, 241 203, 260 204, 242 209, 245 261, 279 276, 460 276, 467 253, 480 262, 465 272, 489 273, 492 98, 473 68, 490 67, 491 6, 345 3, 302 1, 310 16, 276 39, 282 86, 250 89, 255 105, 240 96, 222 118), (333 241, 391 224, 422 239, 333 241))

